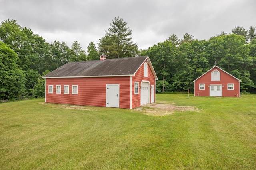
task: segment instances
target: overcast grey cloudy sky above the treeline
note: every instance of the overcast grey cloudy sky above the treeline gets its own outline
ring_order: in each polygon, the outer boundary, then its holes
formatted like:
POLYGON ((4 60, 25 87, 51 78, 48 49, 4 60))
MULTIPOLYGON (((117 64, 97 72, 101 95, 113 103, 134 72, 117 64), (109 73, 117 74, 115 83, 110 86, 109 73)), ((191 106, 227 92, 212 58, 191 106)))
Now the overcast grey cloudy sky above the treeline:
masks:
POLYGON ((96 46, 115 17, 132 29, 132 41, 148 49, 171 34, 210 39, 236 26, 256 27, 256 0, 0 0, 0 22, 17 20, 49 43, 96 46))

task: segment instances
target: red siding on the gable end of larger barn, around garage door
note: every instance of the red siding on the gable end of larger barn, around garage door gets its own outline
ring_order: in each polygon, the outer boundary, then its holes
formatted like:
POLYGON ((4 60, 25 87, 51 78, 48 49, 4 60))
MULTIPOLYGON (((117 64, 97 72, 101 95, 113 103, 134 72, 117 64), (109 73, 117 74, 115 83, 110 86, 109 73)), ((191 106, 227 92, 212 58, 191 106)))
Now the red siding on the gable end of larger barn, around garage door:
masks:
MULTIPOLYGON (((154 85, 154 89, 156 88, 156 80, 149 66, 148 66, 148 77, 144 77, 144 63, 142 64, 142 66, 140 66, 135 76, 132 77, 132 108, 140 106, 141 91, 139 88, 139 94, 134 94, 134 83, 139 82, 139 87, 140 87, 142 81, 149 81, 150 86, 154 85)), ((150 92, 150 95, 151 95, 151 92, 150 92)), ((155 92, 154 92, 154 95, 155 95, 155 92)), ((151 96, 150 96, 150 100, 151 100, 151 96)))

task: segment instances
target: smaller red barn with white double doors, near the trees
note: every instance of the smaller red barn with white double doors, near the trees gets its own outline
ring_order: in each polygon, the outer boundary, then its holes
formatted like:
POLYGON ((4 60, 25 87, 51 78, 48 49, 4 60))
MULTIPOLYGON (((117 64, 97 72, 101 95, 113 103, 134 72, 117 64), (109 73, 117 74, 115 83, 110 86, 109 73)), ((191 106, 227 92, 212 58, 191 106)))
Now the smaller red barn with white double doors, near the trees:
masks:
POLYGON ((238 78, 214 66, 194 82, 194 96, 240 97, 238 78))

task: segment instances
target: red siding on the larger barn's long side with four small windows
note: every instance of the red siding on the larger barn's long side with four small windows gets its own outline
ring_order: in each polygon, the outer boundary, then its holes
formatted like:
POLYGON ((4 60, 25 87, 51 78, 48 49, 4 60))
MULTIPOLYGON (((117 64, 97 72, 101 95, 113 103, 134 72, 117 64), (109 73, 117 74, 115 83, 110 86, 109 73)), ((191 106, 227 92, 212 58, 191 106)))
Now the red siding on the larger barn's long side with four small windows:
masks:
POLYGON ((106 107, 106 84, 120 84, 119 107, 130 109, 130 77, 47 78, 46 102, 106 107), (53 85, 53 94, 48 85, 53 85), (56 85, 61 85, 61 94, 56 94, 56 85), (69 94, 64 94, 64 85, 69 85, 69 94), (72 94, 72 85, 78 85, 78 94, 72 94))

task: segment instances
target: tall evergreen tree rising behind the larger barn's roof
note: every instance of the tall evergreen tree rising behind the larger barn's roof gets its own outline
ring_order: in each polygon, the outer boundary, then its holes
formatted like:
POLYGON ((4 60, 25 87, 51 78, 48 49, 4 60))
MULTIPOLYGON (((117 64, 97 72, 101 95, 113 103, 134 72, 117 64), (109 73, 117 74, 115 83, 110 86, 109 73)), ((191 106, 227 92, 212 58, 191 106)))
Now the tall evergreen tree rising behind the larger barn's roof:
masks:
POLYGON ((106 35, 99 39, 99 49, 101 53, 108 55, 108 58, 132 57, 138 51, 138 46, 133 43, 132 30, 126 27, 125 22, 119 16, 112 20, 106 35))

